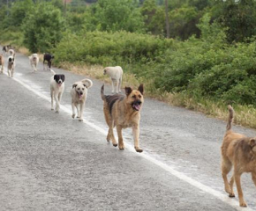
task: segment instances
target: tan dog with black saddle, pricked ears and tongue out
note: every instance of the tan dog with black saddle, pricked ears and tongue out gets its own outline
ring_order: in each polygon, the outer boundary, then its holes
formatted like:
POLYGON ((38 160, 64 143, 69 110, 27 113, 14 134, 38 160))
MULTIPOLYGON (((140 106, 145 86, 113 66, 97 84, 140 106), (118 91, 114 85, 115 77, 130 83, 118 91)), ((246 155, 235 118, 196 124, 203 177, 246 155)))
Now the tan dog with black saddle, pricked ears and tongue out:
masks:
POLYGON ((107 141, 112 141, 114 147, 117 147, 117 141, 114 136, 113 128, 117 126, 118 147, 124 149, 122 129, 132 127, 134 139, 134 148, 137 152, 142 152, 139 148, 139 120, 140 111, 143 105, 143 84, 139 85, 138 90, 132 90, 131 87, 125 87, 125 94, 104 95, 104 84, 102 85, 102 100, 104 101, 103 111, 105 120, 109 126, 107 141))

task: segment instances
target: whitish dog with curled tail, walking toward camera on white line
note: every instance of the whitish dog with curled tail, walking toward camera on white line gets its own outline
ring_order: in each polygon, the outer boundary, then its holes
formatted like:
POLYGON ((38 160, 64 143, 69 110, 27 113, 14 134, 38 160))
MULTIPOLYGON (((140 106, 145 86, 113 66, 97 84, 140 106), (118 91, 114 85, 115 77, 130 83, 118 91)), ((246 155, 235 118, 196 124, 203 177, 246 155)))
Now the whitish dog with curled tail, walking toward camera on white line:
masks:
POLYGON ((72 85, 72 118, 75 118, 75 107, 77 108, 79 121, 83 120, 84 108, 87 100, 87 90, 92 87, 90 79, 83 79, 72 85))

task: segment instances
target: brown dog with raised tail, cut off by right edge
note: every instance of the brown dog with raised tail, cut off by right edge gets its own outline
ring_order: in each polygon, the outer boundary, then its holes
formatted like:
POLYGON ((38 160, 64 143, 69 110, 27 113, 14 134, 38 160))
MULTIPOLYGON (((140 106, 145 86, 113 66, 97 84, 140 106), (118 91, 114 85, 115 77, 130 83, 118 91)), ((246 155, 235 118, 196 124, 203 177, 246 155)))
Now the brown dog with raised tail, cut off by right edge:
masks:
POLYGON ((231 131, 234 110, 231 106, 228 106, 228 108, 230 116, 222 142, 222 178, 225 184, 225 191, 230 194, 230 197, 235 197, 233 191, 235 180, 239 204, 241 207, 246 207, 240 178, 244 172, 251 172, 252 181, 256 186, 256 137, 248 138, 245 135, 231 131), (234 172, 229 184, 227 175, 232 165, 234 165, 234 172))

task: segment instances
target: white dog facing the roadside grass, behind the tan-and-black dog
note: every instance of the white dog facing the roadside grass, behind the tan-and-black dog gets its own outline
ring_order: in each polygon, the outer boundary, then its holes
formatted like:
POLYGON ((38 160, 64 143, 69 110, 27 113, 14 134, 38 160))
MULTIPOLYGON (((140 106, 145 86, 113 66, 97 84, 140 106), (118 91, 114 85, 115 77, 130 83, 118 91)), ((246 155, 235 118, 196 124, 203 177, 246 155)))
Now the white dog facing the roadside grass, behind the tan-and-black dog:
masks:
POLYGON ((107 67, 104 69, 103 75, 108 75, 112 82, 112 93, 114 93, 114 83, 117 83, 117 93, 121 92, 123 69, 120 66, 107 67))

